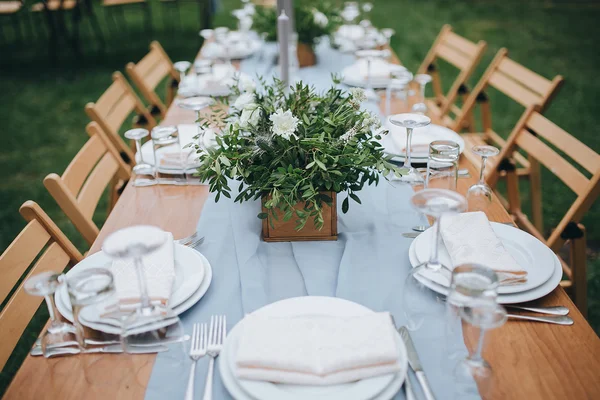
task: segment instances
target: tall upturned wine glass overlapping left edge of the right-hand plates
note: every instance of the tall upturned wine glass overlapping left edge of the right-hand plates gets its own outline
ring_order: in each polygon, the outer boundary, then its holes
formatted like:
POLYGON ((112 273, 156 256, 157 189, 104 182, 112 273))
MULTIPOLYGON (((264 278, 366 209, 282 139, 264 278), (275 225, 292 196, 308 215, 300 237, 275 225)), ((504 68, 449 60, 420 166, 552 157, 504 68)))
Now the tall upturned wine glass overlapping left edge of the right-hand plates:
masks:
POLYGON ((467 202, 462 195, 446 189, 423 189, 416 192, 410 202, 422 214, 435 218, 435 222, 429 260, 413 268, 404 282, 402 299, 407 327, 423 334, 443 332, 445 307, 428 285, 431 277, 450 280, 450 269, 439 259, 440 220, 444 215, 463 212, 467 202))

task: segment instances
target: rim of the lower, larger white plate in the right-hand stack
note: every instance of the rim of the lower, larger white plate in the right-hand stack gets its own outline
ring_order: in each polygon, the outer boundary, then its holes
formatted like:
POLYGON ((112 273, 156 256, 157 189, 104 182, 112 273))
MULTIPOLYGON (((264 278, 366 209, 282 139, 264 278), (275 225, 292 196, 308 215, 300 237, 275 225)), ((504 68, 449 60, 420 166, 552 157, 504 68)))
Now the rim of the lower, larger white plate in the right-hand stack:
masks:
MULTIPOLYGON (((552 253, 552 250, 548 249, 549 252, 552 253)), ((553 263, 553 272, 550 279, 548 279, 544 284, 536 287, 535 289, 527 290, 525 292, 518 293, 507 293, 507 294, 499 294, 498 295, 498 303, 500 304, 517 304, 517 303, 525 303, 527 301, 533 301, 540 299, 546 296, 548 293, 552 292, 556 287, 560 284, 562 279, 562 266, 560 265, 560 261, 558 257, 554 253, 554 263, 553 263)), ((417 256, 415 254, 415 242, 411 243, 408 249, 408 257, 411 265, 416 267, 420 264, 417 256)), ((448 295, 448 288, 446 286, 442 286, 438 283, 435 283, 423 276, 417 278, 423 285, 433 290, 436 293, 443 294, 444 296, 448 295)))

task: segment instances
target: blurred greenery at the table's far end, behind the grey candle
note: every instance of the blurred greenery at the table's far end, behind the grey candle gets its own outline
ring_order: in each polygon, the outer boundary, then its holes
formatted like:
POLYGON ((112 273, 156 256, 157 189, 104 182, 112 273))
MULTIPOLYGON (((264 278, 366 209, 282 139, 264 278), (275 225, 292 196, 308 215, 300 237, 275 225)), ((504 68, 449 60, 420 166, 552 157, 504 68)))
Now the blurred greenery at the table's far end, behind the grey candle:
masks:
MULTIPOLYGON (((342 19, 330 1, 301 0, 294 2, 294 19, 298 42, 314 47, 323 36, 331 36, 342 19)), ((277 41, 277 8, 256 6, 252 29, 266 34, 269 42, 277 41)))

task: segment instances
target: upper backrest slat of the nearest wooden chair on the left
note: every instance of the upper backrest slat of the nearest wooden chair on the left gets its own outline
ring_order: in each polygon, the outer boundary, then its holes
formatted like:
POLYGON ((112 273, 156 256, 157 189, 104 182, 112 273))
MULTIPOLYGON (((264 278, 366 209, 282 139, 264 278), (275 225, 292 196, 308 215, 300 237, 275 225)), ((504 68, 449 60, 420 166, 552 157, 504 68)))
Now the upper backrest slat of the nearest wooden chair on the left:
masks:
POLYGON ((6 299, 48 240, 50 234, 38 221, 33 220, 0 255, 0 303, 6 299))

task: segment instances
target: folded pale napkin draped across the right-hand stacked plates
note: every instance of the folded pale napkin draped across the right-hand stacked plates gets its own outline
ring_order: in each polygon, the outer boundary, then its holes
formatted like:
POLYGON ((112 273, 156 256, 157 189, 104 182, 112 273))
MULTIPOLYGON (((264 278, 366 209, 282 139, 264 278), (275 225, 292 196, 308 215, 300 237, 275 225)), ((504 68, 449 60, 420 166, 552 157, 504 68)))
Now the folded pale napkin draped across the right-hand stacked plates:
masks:
POLYGON ((498 239, 481 211, 445 216, 440 233, 452 265, 479 264, 493 269, 501 285, 527 282, 527 271, 498 239))

